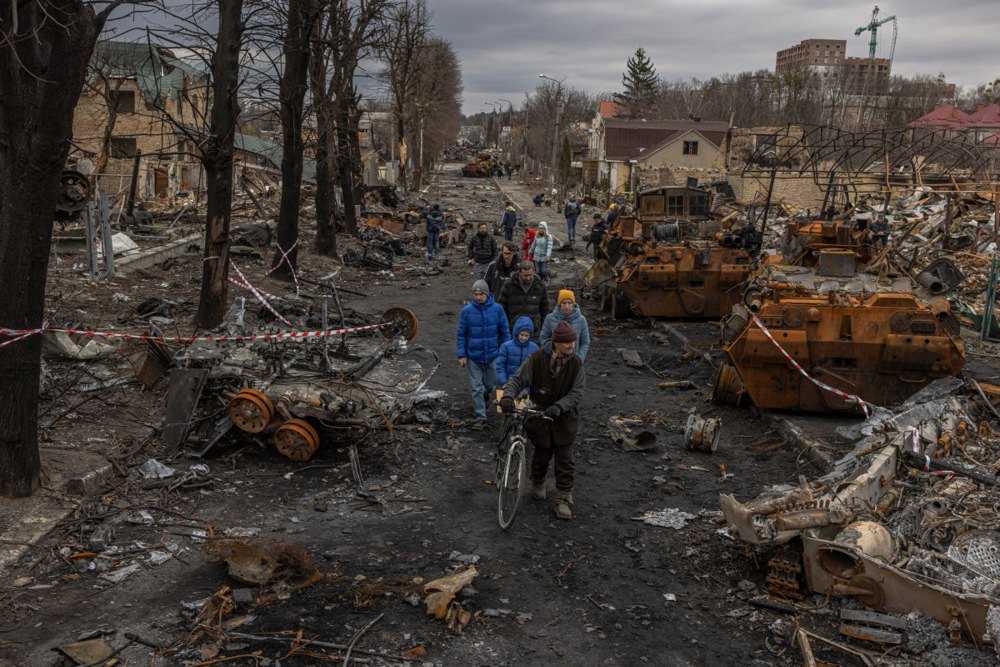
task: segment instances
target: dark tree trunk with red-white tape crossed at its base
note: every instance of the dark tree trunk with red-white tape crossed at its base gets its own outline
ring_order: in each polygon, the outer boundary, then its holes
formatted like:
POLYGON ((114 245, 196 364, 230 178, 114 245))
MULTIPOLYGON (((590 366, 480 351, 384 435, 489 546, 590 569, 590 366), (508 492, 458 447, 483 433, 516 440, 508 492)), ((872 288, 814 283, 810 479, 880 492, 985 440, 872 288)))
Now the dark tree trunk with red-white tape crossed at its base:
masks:
POLYGON ((289 0, 281 73, 281 205, 273 275, 291 280, 298 270, 299 202, 302 194, 302 115, 309 74, 309 34, 315 19, 311 0, 289 0))

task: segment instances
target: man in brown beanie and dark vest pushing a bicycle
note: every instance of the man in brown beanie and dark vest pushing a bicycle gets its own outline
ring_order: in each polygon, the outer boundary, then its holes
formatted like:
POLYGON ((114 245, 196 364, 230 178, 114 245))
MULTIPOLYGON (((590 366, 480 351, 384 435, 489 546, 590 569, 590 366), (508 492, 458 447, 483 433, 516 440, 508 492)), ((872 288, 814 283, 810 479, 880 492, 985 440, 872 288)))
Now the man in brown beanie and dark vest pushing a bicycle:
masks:
POLYGON ((552 333, 549 350, 541 349, 521 364, 503 388, 500 407, 505 414, 515 410, 514 399, 528 391, 531 402, 545 413, 545 418, 529 417, 524 424, 534 445, 531 460, 531 493, 546 496, 545 478, 549 461, 555 461, 556 492, 553 510, 560 519, 573 518, 573 484, 576 467, 573 445, 580 425, 580 401, 585 374, 583 362, 574 354, 576 331, 560 322, 552 333))

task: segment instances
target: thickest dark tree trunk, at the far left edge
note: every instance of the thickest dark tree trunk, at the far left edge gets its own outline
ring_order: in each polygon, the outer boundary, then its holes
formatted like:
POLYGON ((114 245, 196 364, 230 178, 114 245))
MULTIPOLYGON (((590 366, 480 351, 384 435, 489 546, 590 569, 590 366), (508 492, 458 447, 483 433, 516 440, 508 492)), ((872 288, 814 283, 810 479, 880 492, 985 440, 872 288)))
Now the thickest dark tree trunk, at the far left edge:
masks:
MULTIPOLYGON (((12 329, 42 326, 59 177, 103 24, 80 0, 46 5, 19 3, 17 34, 6 35, 0 48, 0 327, 12 329)), ((10 341, 0 336, 0 345, 10 341)), ((41 350, 38 335, 0 347, 3 496, 28 496, 38 488, 41 350)))

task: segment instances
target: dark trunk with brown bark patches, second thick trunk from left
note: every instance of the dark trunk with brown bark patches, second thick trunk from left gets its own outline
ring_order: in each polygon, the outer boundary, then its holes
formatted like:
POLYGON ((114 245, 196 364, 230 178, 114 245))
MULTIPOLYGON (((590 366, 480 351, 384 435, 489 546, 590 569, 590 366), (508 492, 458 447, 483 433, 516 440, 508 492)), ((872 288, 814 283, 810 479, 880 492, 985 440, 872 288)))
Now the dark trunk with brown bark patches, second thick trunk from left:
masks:
POLYGON ((219 0, 219 33, 212 58, 212 115, 202 152, 208 191, 205 257, 195 322, 205 329, 222 323, 229 303, 229 223, 233 207, 233 140, 240 109, 236 101, 243 36, 243 0, 219 0))

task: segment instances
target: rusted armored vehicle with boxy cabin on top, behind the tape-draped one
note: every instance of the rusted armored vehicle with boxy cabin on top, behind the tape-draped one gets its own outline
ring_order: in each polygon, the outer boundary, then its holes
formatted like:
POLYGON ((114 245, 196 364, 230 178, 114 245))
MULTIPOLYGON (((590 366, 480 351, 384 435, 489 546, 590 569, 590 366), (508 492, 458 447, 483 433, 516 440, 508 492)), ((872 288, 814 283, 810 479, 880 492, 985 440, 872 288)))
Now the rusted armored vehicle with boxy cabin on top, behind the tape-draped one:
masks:
POLYGON ((615 318, 717 319, 742 298, 750 275, 752 229, 722 231, 709 219, 709 193, 690 187, 647 190, 635 213, 604 239, 605 261, 588 275, 602 285, 615 318))

